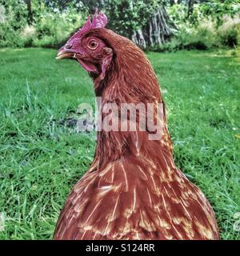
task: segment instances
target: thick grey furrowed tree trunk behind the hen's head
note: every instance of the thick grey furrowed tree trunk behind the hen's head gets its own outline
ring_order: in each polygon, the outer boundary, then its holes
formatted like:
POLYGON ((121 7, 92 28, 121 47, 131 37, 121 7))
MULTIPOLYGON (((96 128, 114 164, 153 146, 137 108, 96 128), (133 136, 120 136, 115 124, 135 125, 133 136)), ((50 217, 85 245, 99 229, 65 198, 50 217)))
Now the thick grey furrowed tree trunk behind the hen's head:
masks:
POLYGON ((177 27, 166 13, 166 9, 161 6, 158 11, 150 17, 146 26, 142 27, 141 30, 134 31, 131 39, 142 49, 162 46, 174 35, 176 30, 177 27))

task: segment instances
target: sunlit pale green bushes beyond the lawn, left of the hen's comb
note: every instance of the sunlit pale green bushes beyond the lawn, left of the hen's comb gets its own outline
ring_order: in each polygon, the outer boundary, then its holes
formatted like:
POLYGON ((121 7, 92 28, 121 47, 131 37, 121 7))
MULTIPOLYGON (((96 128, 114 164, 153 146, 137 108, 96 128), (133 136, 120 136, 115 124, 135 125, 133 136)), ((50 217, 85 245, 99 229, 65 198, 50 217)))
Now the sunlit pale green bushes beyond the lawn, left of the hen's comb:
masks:
POLYGON ((34 22, 28 25, 24 1, 19 2, 17 9, 13 1, 1 6, 0 47, 58 47, 86 20, 86 8, 78 12, 68 6, 60 12, 49 9, 37 0, 32 1, 32 8, 34 22))

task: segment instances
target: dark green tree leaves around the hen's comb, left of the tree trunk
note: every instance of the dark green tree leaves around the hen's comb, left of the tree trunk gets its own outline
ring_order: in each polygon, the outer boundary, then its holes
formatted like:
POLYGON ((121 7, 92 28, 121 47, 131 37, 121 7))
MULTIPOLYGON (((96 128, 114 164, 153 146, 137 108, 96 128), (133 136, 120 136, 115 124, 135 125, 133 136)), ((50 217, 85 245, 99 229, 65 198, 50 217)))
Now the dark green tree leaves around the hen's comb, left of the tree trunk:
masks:
POLYGON ((130 37, 134 30, 140 29, 146 25, 150 15, 158 9, 158 6, 166 4, 163 0, 74 0, 74 1, 48 1, 45 0, 51 8, 58 8, 58 10, 66 10, 71 6, 79 10, 79 6, 86 6, 90 14, 93 14, 96 8, 103 10, 108 19, 110 28, 113 28, 117 33, 126 37, 130 37))

